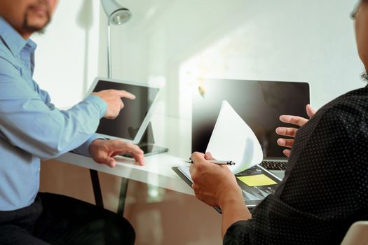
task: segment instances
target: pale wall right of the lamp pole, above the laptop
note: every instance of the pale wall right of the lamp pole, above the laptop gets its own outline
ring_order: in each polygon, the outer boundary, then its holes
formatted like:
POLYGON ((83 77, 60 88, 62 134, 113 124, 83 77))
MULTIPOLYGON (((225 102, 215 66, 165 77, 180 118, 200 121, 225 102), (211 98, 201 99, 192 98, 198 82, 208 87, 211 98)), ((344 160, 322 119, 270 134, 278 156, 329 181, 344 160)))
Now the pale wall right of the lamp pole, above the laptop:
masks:
POLYGON ((364 85, 355 0, 119 2, 133 18, 112 33, 114 77, 165 85, 169 115, 190 117, 198 76, 306 81, 317 109, 364 85))

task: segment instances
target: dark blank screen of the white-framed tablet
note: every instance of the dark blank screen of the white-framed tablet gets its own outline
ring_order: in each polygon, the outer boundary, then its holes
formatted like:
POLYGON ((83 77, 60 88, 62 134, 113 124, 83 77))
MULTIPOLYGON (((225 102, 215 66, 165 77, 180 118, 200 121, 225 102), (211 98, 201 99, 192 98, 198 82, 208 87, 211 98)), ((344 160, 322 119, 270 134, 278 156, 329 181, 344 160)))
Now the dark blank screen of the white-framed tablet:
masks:
MULTIPOLYGON (((141 127, 149 123, 146 119, 149 109, 158 94, 157 87, 134 85, 129 83, 98 80, 93 92, 101 90, 125 90, 135 95, 135 99, 123 98, 124 108, 114 120, 102 118, 97 128, 98 134, 133 141, 141 127)), ((142 135, 140 135, 142 137, 142 135)), ((137 139, 139 141, 139 139, 137 139)))

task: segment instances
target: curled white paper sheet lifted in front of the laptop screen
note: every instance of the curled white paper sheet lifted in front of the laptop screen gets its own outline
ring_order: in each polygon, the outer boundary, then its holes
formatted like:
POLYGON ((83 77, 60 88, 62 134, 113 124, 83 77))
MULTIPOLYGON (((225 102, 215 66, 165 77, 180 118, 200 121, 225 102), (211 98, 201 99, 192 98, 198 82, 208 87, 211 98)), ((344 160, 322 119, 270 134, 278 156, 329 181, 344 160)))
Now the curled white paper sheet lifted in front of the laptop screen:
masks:
POLYGON ((249 169, 263 159, 262 148, 254 132, 226 100, 222 102, 208 151, 218 160, 236 162, 236 165, 229 166, 233 174, 249 169))

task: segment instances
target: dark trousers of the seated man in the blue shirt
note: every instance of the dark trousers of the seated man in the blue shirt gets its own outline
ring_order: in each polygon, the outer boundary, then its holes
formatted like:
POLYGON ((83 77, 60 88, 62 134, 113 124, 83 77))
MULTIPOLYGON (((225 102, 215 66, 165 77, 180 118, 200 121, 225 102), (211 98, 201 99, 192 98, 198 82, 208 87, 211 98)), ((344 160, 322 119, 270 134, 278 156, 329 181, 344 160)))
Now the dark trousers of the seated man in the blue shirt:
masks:
POLYGON ((29 207, 0 211, 0 244, 134 244, 125 218, 71 197, 39 193, 29 207))

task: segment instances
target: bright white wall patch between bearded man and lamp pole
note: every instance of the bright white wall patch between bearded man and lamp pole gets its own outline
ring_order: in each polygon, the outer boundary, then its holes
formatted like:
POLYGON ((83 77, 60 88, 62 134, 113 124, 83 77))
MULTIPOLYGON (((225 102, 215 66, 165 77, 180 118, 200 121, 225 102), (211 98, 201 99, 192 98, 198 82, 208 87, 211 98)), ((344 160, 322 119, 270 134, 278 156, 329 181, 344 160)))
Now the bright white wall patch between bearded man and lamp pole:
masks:
POLYGON ((34 80, 47 90, 53 103, 73 106, 97 76, 100 1, 62 0, 38 44, 34 80))

